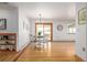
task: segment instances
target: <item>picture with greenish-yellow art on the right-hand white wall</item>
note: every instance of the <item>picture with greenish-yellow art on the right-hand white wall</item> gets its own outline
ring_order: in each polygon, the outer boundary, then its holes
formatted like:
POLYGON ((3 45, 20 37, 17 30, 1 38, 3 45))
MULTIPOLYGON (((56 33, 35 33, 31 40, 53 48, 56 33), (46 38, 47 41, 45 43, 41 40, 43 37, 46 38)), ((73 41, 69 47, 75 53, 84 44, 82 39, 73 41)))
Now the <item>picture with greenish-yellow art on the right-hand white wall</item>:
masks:
POLYGON ((86 24, 86 8, 78 11, 78 24, 86 24))

